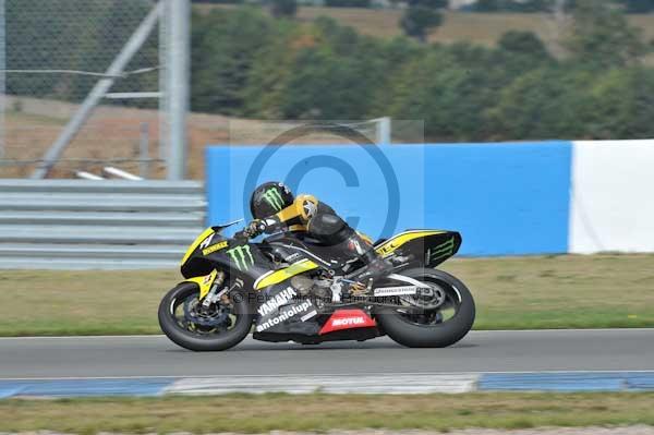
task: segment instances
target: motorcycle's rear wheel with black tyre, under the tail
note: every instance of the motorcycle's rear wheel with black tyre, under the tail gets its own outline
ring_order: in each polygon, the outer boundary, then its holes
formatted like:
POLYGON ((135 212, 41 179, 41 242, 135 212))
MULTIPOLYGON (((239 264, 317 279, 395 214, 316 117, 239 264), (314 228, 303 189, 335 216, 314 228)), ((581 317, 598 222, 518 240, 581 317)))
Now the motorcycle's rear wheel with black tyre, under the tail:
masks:
POLYGON ((404 298, 404 303, 412 310, 379 310, 377 321, 390 338, 410 348, 445 348, 465 337, 474 323, 475 306, 463 282, 436 269, 416 268, 400 274, 427 283, 439 300, 434 304, 411 297, 404 298), (414 309, 421 304, 423 309, 416 313, 414 309))

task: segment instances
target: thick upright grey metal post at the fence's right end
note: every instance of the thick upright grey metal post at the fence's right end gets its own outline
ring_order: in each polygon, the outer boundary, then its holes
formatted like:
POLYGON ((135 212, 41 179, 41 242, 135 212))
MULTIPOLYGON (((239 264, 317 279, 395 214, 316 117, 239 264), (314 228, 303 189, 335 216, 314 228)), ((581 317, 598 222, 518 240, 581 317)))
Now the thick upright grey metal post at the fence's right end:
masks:
POLYGON ((186 169, 186 112, 189 111, 189 64, 191 5, 189 0, 168 0, 168 179, 183 180, 186 169))

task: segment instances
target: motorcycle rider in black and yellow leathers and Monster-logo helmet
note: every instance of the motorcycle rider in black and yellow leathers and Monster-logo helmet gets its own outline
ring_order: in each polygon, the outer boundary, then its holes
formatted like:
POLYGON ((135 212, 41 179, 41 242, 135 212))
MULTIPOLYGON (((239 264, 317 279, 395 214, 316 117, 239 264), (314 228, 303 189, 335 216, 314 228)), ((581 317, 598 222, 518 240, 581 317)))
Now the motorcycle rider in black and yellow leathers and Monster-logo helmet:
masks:
MULTIPOLYGON (((371 240, 352 229, 330 206, 312 195, 294 197, 283 183, 271 181, 257 186, 250 198, 250 212, 254 220, 243 230, 245 235, 304 232, 325 245, 338 245, 364 263, 355 279, 367 288, 392 268, 377 255, 371 240)), ((362 286, 353 289, 361 290, 362 286)))

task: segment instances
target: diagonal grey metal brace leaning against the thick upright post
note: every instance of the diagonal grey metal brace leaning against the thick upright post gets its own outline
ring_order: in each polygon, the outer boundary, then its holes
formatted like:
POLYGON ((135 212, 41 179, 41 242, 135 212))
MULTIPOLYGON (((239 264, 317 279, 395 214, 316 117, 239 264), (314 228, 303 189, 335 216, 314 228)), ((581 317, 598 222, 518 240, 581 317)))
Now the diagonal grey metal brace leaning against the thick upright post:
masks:
POLYGON ((143 46, 143 44, 146 41, 150 32, 157 24, 160 15, 161 3, 157 3, 147 14, 145 20, 143 20, 143 22, 138 25, 138 28, 136 28, 134 34, 130 37, 128 44, 123 47, 122 51, 118 55, 118 57, 113 60, 113 63, 111 63, 107 70, 106 74, 112 77, 102 78, 96 83, 94 88, 86 96, 86 99, 82 106, 80 106, 80 109, 75 112, 75 116, 69 121, 52 146, 50 146, 44 157, 44 161, 34 170, 32 173, 32 179, 46 178, 50 171, 50 168, 52 168, 57 160, 59 160, 59 157, 68 144, 75 137, 75 135, 77 135, 82 125, 84 125, 88 117, 90 117, 90 113, 96 108, 100 99, 111 88, 113 82, 116 82, 114 76, 119 76, 123 72, 124 68, 128 65, 128 63, 130 63, 130 60, 132 60, 141 46, 143 46))

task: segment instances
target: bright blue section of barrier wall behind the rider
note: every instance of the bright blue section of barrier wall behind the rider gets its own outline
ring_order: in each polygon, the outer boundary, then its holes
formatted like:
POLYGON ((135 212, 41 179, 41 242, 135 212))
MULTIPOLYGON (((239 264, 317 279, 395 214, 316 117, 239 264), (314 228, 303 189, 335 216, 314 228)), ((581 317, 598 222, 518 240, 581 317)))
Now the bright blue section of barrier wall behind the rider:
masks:
POLYGON ((572 145, 292 145, 207 148, 210 225, 250 218, 264 181, 312 193, 373 238, 455 229, 461 254, 565 253, 572 145))

